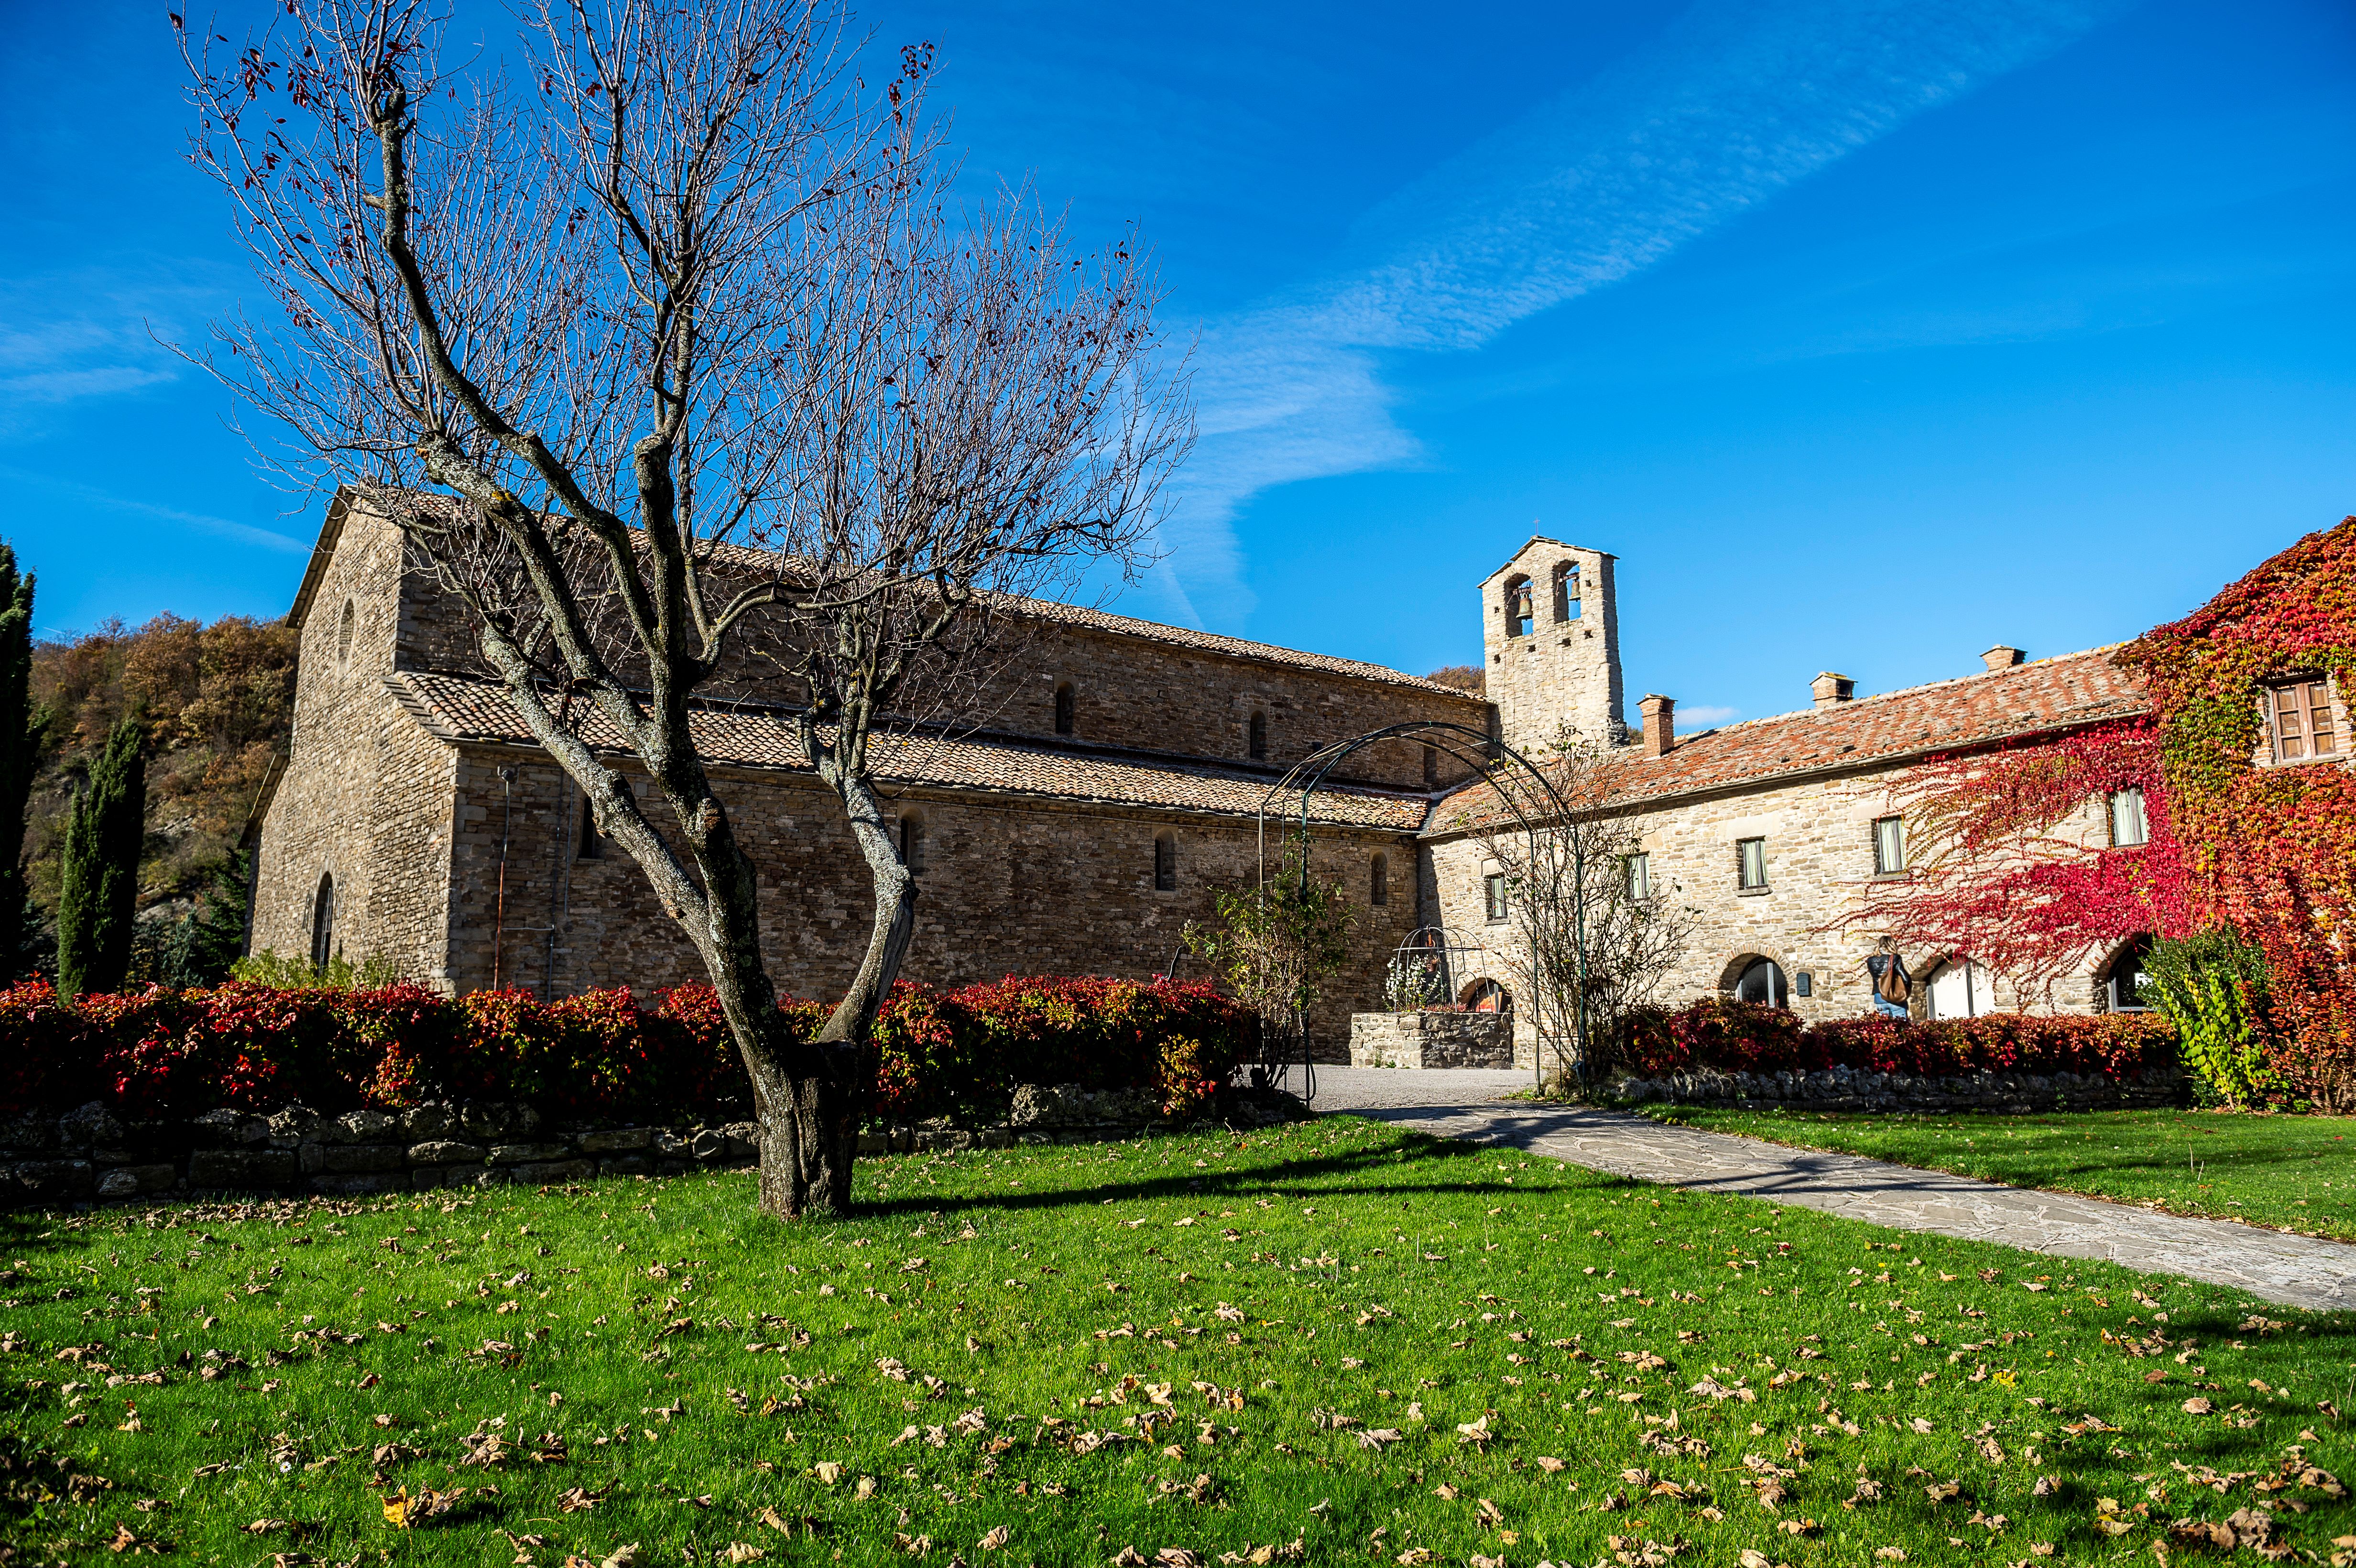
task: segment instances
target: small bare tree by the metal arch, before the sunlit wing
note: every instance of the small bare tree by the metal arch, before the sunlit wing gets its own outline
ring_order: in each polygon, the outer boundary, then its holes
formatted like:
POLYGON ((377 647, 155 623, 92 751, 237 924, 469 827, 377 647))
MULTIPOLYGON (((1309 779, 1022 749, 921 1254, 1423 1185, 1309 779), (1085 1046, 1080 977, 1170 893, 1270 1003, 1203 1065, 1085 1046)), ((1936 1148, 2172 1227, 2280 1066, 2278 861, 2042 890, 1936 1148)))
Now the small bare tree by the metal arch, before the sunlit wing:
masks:
POLYGON ((1505 873, 1513 989, 1527 998, 1548 1081, 1593 1083, 1630 1008, 1685 958, 1694 909, 1637 862, 1644 819, 1621 796, 1612 749, 1557 730, 1531 758, 1553 793, 1498 770, 1522 822, 1491 812, 1482 845, 1505 873))

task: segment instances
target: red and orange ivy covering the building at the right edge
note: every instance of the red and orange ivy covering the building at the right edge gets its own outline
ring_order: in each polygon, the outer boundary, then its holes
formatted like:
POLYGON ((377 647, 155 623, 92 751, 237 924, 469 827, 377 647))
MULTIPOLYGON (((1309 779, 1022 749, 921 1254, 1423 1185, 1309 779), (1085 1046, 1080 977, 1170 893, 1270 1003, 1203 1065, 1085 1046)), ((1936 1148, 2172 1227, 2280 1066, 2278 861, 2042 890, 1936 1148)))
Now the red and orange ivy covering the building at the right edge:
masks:
POLYGON ((2193 614, 2118 652, 2151 690, 2191 918, 2266 954, 2269 1062, 2356 1107, 2356 770, 2262 765, 2262 695, 2292 676, 2356 692, 2356 518, 2307 534, 2193 614))

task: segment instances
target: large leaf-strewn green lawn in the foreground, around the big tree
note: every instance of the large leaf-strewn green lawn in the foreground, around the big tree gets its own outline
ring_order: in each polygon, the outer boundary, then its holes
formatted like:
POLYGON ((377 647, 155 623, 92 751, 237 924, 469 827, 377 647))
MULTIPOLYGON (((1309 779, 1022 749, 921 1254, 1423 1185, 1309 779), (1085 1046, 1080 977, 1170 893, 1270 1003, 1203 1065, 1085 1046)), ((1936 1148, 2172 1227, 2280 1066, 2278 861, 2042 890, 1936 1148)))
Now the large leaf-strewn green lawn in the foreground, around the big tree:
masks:
POLYGON ((1880 1568, 2149 1561, 2177 1521, 2321 1561, 2356 1530, 2356 1321, 2210 1285, 1343 1118, 876 1158, 843 1222, 749 1201, 19 1222, 0 1540, 1880 1568))

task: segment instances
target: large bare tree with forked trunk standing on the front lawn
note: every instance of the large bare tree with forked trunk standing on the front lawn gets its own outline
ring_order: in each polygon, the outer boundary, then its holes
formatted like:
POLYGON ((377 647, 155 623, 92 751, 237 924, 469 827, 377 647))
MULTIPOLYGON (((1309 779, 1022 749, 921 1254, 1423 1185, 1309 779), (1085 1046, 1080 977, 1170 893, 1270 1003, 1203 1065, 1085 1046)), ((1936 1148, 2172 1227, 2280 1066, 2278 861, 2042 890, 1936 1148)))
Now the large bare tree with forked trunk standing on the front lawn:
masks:
POLYGON ((196 162, 273 304, 196 358, 466 603, 719 991, 761 1208, 839 1208, 907 878, 879 871, 853 998, 792 1038, 697 692, 742 692, 752 655, 799 673, 810 760, 888 855, 867 739, 891 704, 952 685, 978 607, 1140 546, 1185 438, 1152 292, 1133 247, 1088 271, 1030 202, 949 224, 928 52, 867 97, 813 0, 537 0, 514 71, 445 71, 443 42, 426 0, 184 35, 196 162))

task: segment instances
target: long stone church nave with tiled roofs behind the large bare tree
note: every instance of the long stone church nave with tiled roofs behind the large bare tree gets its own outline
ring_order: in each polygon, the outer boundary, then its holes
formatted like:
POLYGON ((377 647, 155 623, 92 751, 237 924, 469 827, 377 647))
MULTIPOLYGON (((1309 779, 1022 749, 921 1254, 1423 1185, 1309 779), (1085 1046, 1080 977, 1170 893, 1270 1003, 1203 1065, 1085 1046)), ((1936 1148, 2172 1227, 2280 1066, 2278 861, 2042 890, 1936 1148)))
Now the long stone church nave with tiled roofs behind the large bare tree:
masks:
MULTIPOLYGON (((1032 610, 982 727, 879 739, 919 869, 909 979, 1199 977, 1180 932, 1211 918, 1216 888, 1256 881, 1263 808, 1298 817, 1298 793, 1277 791, 1286 768, 1402 718, 1489 725, 1480 697, 1371 664, 1032 610)), ((448 991, 700 979, 389 520, 339 504, 290 619, 294 732, 254 815, 254 951, 379 956, 448 991)), ((770 972, 787 994, 839 994, 867 939, 867 871, 782 702, 744 671, 714 687, 726 702, 695 723, 763 876, 770 972)), ((1312 869, 1359 904, 1352 963, 1315 1019, 1336 1052, 1421 921, 1416 833, 1456 775, 1395 742, 1310 800, 1312 869)))

